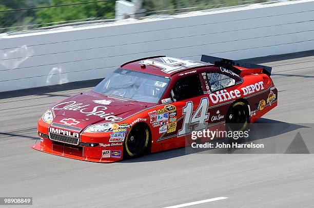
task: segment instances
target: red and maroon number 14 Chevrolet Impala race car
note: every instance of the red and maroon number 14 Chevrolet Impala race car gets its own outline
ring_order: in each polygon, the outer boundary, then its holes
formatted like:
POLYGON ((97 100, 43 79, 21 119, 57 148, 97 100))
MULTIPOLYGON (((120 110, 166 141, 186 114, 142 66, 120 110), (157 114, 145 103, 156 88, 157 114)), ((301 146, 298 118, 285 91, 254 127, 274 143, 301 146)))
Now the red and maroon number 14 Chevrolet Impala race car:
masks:
POLYGON ((277 106, 271 67, 202 55, 121 65, 93 90, 55 103, 38 121, 36 150, 100 163, 186 146, 186 135, 245 127, 277 106))

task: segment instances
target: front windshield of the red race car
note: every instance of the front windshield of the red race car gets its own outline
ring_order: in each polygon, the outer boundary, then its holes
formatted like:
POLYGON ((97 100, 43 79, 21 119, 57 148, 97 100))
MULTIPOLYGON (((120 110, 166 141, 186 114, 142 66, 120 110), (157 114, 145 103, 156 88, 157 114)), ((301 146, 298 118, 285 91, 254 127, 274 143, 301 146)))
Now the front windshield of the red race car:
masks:
POLYGON ((106 96, 158 103, 168 83, 169 78, 118 68, 93 91, 106 96))

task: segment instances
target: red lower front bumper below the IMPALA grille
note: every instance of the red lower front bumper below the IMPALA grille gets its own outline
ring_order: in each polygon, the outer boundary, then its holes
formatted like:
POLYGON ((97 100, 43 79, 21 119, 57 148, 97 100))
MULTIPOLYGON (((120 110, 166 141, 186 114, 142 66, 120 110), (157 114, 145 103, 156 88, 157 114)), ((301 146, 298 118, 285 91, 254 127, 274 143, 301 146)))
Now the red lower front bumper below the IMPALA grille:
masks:
POLYGON ((82 147, 54 142, 49 140, 49 138, 38 137, 32 148, 49 154, 95 163, 113 163, 123 159, 123 146, 82 147))

